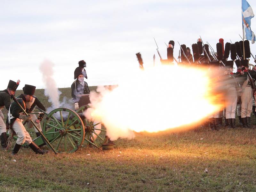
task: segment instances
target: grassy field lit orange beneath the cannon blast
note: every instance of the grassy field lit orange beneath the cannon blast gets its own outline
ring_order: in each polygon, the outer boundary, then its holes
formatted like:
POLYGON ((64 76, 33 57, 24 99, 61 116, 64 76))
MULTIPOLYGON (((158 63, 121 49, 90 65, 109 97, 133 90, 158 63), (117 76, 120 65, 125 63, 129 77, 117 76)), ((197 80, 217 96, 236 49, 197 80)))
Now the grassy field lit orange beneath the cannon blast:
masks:
MULTIPOLYGON (((60 91, 60 100, 70 98, 69 88, 60 91)), ((50 107, 43 90, 36 96, 50 107)), ((1 150, 0 191, 256 191, 255 129, 135 135, 106 152, 41 156, 21 148, 13 157, 1 150)))

